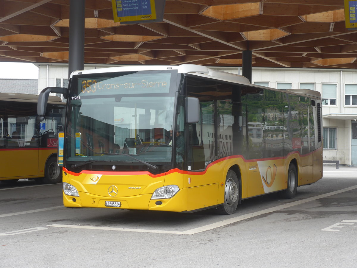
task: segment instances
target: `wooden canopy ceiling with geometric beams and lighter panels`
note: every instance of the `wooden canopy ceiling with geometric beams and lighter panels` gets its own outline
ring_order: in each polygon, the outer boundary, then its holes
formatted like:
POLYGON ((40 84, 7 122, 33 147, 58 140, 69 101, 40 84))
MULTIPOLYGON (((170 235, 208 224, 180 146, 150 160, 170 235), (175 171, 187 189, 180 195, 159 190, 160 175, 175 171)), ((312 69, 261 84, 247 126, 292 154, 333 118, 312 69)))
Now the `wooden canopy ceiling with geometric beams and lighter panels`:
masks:
MULTIPOLYGON (((69 0, 0 0, 0 61, 67 63, 69 0)), ((85 63, 357 69, 343 0, 166 0, 164 21, 114 23, 86 0, 85 63), (97 14, 97 15, 95 15, 97 14)))

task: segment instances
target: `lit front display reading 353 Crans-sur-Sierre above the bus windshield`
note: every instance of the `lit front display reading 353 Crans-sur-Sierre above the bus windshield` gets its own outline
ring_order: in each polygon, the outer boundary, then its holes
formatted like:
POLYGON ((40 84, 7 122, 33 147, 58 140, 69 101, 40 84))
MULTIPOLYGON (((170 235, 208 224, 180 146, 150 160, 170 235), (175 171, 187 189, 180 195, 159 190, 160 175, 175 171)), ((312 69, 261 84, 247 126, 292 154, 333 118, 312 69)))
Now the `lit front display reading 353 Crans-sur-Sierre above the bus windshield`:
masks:
POLYGON ((80 99, 85 95, 168 93, 171 73, 128 74, 114 78, 78 79, 80 99))

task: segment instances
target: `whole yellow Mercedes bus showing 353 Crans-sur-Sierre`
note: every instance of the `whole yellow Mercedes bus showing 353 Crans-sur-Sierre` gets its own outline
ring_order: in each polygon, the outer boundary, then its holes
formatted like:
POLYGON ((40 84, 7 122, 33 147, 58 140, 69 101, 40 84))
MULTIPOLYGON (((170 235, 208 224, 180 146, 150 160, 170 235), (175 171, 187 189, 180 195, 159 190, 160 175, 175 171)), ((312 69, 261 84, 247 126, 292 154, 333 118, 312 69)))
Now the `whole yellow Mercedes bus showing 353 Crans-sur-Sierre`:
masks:
POLYGON ((322 178, 317 91, 184 64, 75 71, 52 92, 68 98, 66 207, 232 214, 322 178))

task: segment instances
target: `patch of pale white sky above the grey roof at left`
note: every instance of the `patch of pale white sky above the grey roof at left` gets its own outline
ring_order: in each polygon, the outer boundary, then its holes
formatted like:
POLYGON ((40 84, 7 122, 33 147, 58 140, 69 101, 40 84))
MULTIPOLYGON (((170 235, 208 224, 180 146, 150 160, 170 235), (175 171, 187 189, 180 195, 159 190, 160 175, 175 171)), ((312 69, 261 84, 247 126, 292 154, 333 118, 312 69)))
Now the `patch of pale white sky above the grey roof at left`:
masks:
POLYGON ((0 79, 38 79, 39 68, 32 63, 0 62, 0 79))

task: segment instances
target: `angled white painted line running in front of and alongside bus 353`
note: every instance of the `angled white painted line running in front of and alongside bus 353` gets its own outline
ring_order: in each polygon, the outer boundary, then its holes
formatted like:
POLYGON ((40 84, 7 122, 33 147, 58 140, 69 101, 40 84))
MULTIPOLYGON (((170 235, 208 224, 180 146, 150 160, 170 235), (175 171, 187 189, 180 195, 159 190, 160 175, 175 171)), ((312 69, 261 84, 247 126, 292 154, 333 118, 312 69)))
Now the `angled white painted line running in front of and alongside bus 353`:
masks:
POLYGON ((112 231, 125 231, 125 232, 144 232, 144 233, 165 233, 165 234, 186 234, 186 235, 191 235, 191 234, 197 234, 197 233, 201 233, 201 232, 205 232, 208 230, 212 230, 218 227, 222 227, 231 223, 236 223, 239 222, 241 220, 245 220, 245 219, 249 219, 249 218, 253 218, 262 214, 266 214, 266 213, 271 213, 271 212, 275 212, 281 209, 285 209, 285 208, 289 208, 289 207, 293 207, 295 205, 300 205, 303 203, 307 203, 316 199, 320 199, 320 198, 325 198, 325 197, 329 197, 331 195, 335 195, 335 194, 340 194, 343 192, 347 192, 353 189, 356 189, 357 185, 355 186, 351 186, 345 189, 341 189, 341 190, 337 190, 334 192, 330 192, 330 193, 326 193, 326 194, 320 194, 317 195, 315 197, 310 197, 310 198, 306 198, 306 199, 302 199, 302 200, 298 200, 295 202, 291 202, 291 203, 287 203, 287 204, 283 204, 283 205, 278 205, 276 207, 272 207, 272 208, 267 208, 267 209, 263 209, 257 212, 253 212, 253 213, 248 213, 245 215, 240 215, 237 217, 233 217, 231 219, 226 219, 226 220, 221 220, 220 222, 216 222, 216 223, 212 223, 212 224, 208 224, 208 225, 204 225, 202 227, 198 227, 198 228, 194 228, 194 229, 190 229, 190 230, 186 230, 186 231, 165 231, 165 230, 150 230, 150 229, 130 229, 130 228, 115 228, 115 227, 100 227, 100 226, 85 226, 85 225, 66 225, 66 224, 51 224, 51 225, 46 225, 46 227, 62 227, 62 228, 79 228, 79 229, 95 229, 95 230, 112 230, 112 231))

